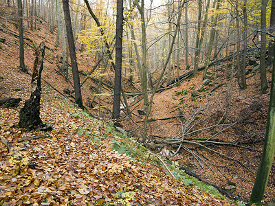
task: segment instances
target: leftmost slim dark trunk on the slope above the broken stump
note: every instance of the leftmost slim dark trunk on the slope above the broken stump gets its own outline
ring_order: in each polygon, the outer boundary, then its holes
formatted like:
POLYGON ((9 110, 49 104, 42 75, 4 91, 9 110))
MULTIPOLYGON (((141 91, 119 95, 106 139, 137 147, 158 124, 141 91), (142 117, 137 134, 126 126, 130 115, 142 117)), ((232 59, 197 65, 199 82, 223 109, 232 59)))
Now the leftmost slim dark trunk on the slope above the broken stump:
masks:
POLYGON ((17 0, 18 16, 19 16, 19 43, 20 43, 20 54, 19 54, 19 67, 24 72, 28 72, 24 62, 24 33, 23 33, 23 8, 22 0, 17 0))

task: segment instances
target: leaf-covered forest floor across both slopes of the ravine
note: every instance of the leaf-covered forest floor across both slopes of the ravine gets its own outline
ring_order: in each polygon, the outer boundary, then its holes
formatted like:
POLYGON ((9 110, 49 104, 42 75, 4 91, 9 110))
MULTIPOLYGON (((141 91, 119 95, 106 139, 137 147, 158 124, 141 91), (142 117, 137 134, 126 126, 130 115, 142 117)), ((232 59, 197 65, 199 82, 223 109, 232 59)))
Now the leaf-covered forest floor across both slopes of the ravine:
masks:
MULTIPOLYGON (((96 119, 87 117, 87 113, 72 104, 74 99, 63 92, 64 89, 72 91, 72 76, 69 73, 69 80, 65 80, 56 66, 56 58, 60 56, 60 48, 55 44, 56 30, 51 34, 49 25, 43 21, 37 27, 40 29, 25 32, 25 65, 32 73, 34 45, 45 41, 41 119, 53 127, 47 133, 17 128, 20 108, 30 98, 31 76, 18 67, 19 38, 14 10, 0 5, 0 37, 5 39, 0 43, 0 97, 23 100, 18 108, 0 108, 0 136, 21 152, 23 160, 28 158, 36 163, 36 170, 23 167, 24 163, 12 159, 5 146, 0 144, 1 205, 231 204, 197 187, 171 179, 166 169, 146 160, 152 158, 148 157, 148 152, 144 151, 146 159, 139 159, 112 150, 113 146, 123 148, 118 143, 122 137, 102 122, 111 119, 112 76, 104 78, 103 95, 98 95, 93 104, 90 102, 97 79, 89 78, 83 84, 84 104, 96 119), (18 142, 23 137, 36 135, 46 137, 18 142)), ((93 64, 90 56, 78 55, 81 81, 93 64)), ((233 188, 235 191, 229 192, 228 196, 246 202, 263 150, 270 92, 260 94, 259 73, 248 75, 248 89, 239 89, 236 78, 232 82, 228 78, 231 67, 230 61, 210 67, 210 85, 203 85, 202 73, 199 72, 195 78, 181 82, 180 86, 157 93, 149 119, 172 119, 148 123, 146 146, 150 149, 153 145, 159 146, 161 149, 154 148, 152 151, 160 152, 177 168, 223 191, 233 188), (201 89, 199 96, 192 97, 194 89, 201 89), (230 108, 229 115, 221 125, 219 122, 226 108, 230 108), (196 142, 210 138, 212 142, 199 143, 203 144, 201 146, 198 142, 193 144, 188 141, 177 155, 170 157, 169 154, 173 154, 179 145, 165 143, 169 139, 181 138, 183 131, 187 133, 184 135, 186 140, 196 142)), ((185 69, 182 69, 181 73, 184 72, 185 69)), ((270 72, 267 72, 267 78, 270 83, 270 72)), ((130 84, 125 78, 122 84, 127 93, 139 92, 137 84, 130 84)), ((129 137, 140 139, 144 116, 139 115, 137 109, 143 106, 142 96, 135 95, 128 102, 133 109, 133 118, 129 119, 122 113, 125 119, 122 126, 129 137)), ((132 141, 128 144, 135 145, 132 141)), ((139 147, 139 144, 133 147, 139 147)), ((274 168, 273 165, 265 202, 274 200, 274 168)))

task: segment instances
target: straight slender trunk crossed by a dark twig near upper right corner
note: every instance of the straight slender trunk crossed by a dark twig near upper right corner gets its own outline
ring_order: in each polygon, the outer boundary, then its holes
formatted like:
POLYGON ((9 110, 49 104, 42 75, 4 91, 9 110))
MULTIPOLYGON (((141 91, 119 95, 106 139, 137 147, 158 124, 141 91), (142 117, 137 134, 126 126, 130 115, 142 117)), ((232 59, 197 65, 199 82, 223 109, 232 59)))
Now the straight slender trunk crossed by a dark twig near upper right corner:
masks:
MULTIPOLYGON (((262 0, 261 5, 261 30, 266 29, 266 0, 262 0)), ((261 93, 266 93, 267 77, 265 70, 265 44, 266 34, 261 33, 261 50, 260 50, 260 73, 261 73, 261 93)))

